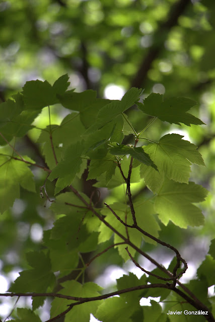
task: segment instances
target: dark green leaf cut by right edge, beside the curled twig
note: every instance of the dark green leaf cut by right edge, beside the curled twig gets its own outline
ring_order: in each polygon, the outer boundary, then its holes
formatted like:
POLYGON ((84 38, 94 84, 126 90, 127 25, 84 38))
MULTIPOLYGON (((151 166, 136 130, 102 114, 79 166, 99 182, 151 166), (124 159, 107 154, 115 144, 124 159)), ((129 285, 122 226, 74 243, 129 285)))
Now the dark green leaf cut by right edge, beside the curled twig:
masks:
POLYGON ((207 255, 205 260, 197 269, 197 276, 199 279, 206 279, 208 287, 215 284, 215 260, 207 255))

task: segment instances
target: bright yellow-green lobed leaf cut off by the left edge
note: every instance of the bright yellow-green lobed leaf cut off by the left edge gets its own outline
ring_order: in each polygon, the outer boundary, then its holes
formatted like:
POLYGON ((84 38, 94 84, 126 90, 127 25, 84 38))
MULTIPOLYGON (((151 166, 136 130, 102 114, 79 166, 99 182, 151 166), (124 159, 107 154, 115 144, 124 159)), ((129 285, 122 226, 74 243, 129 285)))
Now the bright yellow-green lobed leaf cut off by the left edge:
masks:
POLYGON ((35 183, 29 165, 22 161, 0 155, 0 166, 0 212, 3 213, 20 197, 20 186, 35 192, 35 183))

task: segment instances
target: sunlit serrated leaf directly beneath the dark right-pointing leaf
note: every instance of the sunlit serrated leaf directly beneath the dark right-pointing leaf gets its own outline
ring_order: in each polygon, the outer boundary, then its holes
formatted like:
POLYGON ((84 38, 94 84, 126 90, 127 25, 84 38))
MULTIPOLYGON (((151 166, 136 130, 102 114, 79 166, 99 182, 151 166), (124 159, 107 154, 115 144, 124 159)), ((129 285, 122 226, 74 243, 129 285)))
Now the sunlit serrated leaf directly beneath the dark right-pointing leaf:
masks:
POLYGON ((204 166, 201 154, 196 150, 197 146, 182 138, 179 134, 167 134, 158 143, 144 146, 144 151, 159 170, 156 172, 143 164, 140 166, 140 177, 144 178, 153 192, 159 190, 165 176, 177 182, 188 183, 191 163, 204 166))

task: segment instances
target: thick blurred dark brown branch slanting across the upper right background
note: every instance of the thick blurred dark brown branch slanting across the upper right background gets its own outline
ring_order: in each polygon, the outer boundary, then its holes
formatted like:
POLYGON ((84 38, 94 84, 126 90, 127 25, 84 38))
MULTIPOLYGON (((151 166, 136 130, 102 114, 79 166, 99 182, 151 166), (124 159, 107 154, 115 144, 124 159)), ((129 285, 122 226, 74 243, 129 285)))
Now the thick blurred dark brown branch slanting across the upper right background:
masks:
POLYGON ((142 87, 147 79, 147 73, 150 70, 153 61, 159 56, 160 52, 164 48, 164 43, 168 37, 168 33, 172 27, 177 25, 178 18, 184 13, 189 4, 189 0, 180 0, 178 3, 174 4, 169 12, 167 21, 158 26, 154 38, 157 40, 161 39, 161 41, 158 41, 157 44, 154 44, 149 49, 147 55, 140 63, 140 67, 133 78, 131 87, 142 87))

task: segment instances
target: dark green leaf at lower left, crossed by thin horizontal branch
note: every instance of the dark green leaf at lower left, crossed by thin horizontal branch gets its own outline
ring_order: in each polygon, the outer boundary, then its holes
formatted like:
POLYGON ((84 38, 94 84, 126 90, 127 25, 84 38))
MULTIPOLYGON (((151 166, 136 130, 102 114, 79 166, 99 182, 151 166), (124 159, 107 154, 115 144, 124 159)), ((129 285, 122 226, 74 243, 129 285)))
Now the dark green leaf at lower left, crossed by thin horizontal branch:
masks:
MULTIPOLYGON (((20 272, 20 276, 10 287, 10 292, 46 292, 47 288, 53 288, 55 275, 51 269, 48 254, 43 252, 30 252, 26 254, 27 261, 32 269, 20 272)), ((43 305, 44 297, 33 298, 33 309, 43 305)))

